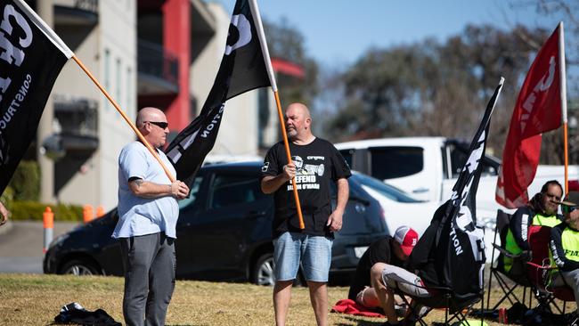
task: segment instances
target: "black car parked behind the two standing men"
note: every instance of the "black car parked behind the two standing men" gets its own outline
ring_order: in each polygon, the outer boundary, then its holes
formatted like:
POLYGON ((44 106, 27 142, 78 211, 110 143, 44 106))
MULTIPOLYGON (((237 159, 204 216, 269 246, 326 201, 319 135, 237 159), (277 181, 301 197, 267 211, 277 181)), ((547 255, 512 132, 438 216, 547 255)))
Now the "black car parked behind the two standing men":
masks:
MULTIPOLYGON (((261 162, 200 169, 190 198, 179 202, 177 278, 273 283, 273 196, 261 192, 260 174, 261 162)), ((359 175, 348 180, 350 198, 332 247, 331 275, 354 273, 371 242, 389 233, 379 201, 363 189, 359 175)), ((53 240, 44 272, 122 275, 118 240, 110 237, 117 221, 113 209, 53 240)))

